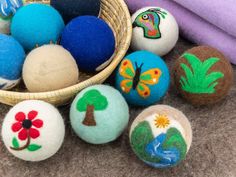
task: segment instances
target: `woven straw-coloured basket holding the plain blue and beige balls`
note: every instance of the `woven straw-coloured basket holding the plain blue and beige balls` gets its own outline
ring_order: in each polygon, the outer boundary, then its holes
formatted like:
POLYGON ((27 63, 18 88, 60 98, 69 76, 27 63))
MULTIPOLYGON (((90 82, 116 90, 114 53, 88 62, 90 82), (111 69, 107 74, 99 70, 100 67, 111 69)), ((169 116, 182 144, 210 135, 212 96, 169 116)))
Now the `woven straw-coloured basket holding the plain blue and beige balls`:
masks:
POLYGON ((44 100, 58 106, 68 103, 82 89, 103 83, 126 54, 131 41, 132 25, 128 8, 123 0, 102 0, 100 17, 112 27, 116 37, 116 51, 109 66, 96 75, 80 73, 78 84, 56 91, 29 93, 23 89, 24 86, 16 88, 14 91, 0 90, 0 102, 15 105, 21 101, 33 99, 44 100))

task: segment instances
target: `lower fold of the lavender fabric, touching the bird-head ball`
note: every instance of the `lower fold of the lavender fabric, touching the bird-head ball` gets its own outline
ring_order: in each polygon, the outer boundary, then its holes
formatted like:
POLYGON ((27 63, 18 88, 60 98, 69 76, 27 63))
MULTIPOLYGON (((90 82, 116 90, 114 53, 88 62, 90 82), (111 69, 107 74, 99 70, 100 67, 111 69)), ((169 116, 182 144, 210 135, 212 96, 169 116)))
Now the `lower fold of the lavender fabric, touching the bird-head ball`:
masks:
POLYGON ((176 18, 181 34, 199 45, 217 48, 236 64, 236 38, 207 22, 186 8, 169 0, 126 0, 131 12, 145 6, 160 6, 176 18))

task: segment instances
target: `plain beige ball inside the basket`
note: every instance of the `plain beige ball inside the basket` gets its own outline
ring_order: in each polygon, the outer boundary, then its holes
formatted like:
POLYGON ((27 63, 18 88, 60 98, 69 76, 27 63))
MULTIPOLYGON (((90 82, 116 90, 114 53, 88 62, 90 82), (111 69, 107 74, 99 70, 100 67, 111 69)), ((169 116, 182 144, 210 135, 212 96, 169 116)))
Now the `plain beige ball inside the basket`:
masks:
POLYGON ((70 52, 59 45, 44 45, 32 50, 23 66, 23 80, 31 92, 45 92, 72 86, 79 70, 70 52))

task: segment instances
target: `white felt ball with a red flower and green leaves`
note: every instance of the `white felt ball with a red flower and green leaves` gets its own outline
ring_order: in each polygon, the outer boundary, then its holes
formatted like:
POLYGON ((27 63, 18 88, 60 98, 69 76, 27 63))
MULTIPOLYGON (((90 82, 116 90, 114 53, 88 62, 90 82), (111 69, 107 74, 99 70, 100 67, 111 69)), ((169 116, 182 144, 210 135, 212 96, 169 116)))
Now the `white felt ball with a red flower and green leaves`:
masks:
POLYGON ((15 105, 5 116, 2 139, 11 154, 25 161, 42 161, 61 147, 65 125, 59 111, 37 100, 15 105))

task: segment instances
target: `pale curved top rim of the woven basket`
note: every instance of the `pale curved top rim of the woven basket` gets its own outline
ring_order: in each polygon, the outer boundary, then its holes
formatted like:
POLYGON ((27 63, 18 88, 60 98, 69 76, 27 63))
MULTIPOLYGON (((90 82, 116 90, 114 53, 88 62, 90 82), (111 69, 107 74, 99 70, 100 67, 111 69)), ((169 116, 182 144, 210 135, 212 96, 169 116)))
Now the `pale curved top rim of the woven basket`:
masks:
MULTIPOLYGON (((124 2, 124 0, 116 0, 119 1, 124 15, 126 17, 130 17, 130 13, 128 10, 128 7, 126 5, 126 3, 124 2)), ((52 95, 60 95, 61 92, 78 92, 80 89, 78 89, 79 87, 81 88, 86 88, 86 85, 90 85, 89 83, 95 84, 97 81, 102 80, 104 78, 107 78, 107 75, 110 75, 110 73, 112 73, 115 68, 117 67, 117 65, 120 63, 120 61, 122 60, 122 58, 125 56, 129 46, 130 46, 130 42, 131 42, 131 37, 132 37, 132 22, 131 22, 131 18, 127 18, 126 20, 126 25, 127 25, 127 35, 125 37, 125 41, 124 41, 124 46, 122 46, 121 50, 117 51, 117 54, 115 55, 113 61, 101 72, 95 74, 94 76, 92 76, 89 79, 86 79, 82 82, 79 82, 75 85, 66 87, 66 88, 62 88, 62 89, 58 89, 58 90, 54 90, 54 91, 47 91, 47 92, 17 92, 17 91, 9 91, 9 90, 0 90, 0 96, 1 97, 8 97, 9 95, 11 97, 15 97, 15 98, 36 98, 36 99, 41 99, 41 98, 47 98, 50 97, 52 95), (77 91, 76 91, 77 90, 77 91)))

